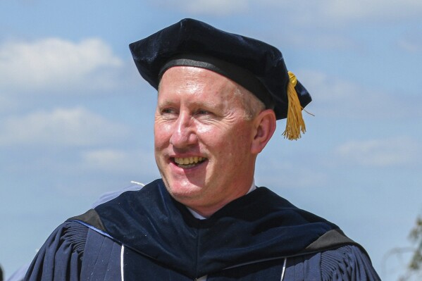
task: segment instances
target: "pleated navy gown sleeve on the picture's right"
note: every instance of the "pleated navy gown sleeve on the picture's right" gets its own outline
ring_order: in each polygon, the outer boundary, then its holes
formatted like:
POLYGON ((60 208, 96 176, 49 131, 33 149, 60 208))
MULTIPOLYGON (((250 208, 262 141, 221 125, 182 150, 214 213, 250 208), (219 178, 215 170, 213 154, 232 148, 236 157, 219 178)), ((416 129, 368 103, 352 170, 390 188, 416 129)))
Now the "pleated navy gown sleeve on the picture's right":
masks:
POLYGON ((321 253, 322 280, 378 281, 371 260, 357 246, 342 246, 321 253))

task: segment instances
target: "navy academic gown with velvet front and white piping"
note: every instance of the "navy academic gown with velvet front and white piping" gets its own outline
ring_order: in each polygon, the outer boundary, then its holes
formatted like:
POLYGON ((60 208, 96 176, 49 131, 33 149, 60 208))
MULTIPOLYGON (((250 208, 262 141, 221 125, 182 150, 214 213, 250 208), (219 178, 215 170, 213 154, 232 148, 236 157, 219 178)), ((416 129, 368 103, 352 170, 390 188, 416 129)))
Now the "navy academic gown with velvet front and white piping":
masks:
POLYGON ((266 187, 199 220, 162 180, 60 225, 25 280, 380 280, 333 223, 266 187))

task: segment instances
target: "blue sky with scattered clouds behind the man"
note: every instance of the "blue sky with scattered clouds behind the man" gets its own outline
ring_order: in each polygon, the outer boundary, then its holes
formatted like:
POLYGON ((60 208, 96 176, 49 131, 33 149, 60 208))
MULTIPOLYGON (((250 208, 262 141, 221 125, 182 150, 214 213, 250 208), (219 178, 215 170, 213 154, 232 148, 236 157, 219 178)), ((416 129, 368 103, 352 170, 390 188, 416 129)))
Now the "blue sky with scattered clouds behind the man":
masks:
POLYGON ((422 213, 420 0, 0 1, 6 277, 104 192, 159 177, 156 91, 128 44, 182 18, 282 51, 314 116, 297 141, 278 121, 256 185, 339 225, 397 280, 422 213))

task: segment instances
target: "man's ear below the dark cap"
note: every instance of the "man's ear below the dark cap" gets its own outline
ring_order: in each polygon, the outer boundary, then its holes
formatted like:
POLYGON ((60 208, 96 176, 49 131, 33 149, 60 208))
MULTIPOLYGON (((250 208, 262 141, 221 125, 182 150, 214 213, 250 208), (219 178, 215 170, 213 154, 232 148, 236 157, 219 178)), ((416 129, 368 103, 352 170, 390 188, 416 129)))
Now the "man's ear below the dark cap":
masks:
POLYGON ((259 154, 273 137, 276 126, 275 113, 272 109, 261 111, 254 118, 254 139, 252 140, 252 154, 259 154))

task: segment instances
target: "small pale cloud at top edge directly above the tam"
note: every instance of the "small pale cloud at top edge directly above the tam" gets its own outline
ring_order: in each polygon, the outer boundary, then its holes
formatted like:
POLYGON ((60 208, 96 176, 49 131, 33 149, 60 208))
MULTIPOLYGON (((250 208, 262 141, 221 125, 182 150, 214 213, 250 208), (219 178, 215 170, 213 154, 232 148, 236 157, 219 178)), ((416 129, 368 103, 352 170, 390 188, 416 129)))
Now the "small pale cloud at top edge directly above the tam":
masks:
POLYGON ((163 8, 178 9, 196 15, 230 15, 241 13, 249 6, 248 0, 161 0, 156 1, 163 8))

